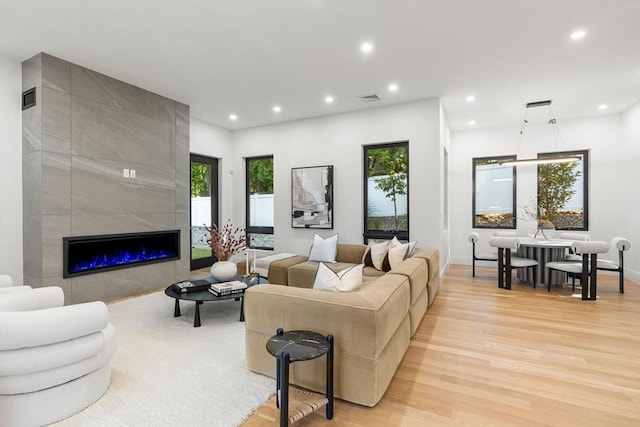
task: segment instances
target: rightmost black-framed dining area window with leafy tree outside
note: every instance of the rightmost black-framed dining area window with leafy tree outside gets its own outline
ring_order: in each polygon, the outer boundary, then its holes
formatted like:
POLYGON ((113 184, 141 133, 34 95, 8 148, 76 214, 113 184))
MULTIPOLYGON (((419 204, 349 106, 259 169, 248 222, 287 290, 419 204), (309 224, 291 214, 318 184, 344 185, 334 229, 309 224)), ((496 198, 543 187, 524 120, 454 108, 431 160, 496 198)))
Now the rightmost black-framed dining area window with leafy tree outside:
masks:
POLYGON ((552 207, 557 214, 551 222, 556 230, 589 230, 589 151, 563 151, 538 153, 538 158, 557 156, 578 156, 572 163, 549 163, 538 165, 538 205, 545 202, 546 194, 552 194, 561 206, 552 207), (560 203, 561 203, 560 202, 560 203))

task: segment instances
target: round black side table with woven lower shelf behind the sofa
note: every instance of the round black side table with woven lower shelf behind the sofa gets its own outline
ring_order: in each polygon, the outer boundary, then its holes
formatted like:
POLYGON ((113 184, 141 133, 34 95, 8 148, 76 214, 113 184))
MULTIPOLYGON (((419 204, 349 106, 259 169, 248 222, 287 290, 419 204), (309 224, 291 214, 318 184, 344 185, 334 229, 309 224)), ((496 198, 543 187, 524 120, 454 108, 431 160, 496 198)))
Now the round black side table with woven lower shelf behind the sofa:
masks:
POLYGON ((267 351, 277 360, 276 406, 280 408, 280 426, 286 427, 326 406, 326 417, 333 418, 333 335, 313 331, 287 331, 278 328, 267 341, 267 351), (304 405, 289 418, 289 364, 327 355, 326 394, 299 392, 304 405))

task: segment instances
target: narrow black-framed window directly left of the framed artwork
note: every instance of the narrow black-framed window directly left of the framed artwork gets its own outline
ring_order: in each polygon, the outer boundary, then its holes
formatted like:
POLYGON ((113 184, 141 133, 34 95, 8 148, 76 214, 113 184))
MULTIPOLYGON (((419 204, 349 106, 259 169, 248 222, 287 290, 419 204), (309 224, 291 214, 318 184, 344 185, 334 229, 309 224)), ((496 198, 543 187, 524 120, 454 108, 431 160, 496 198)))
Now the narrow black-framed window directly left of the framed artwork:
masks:
POLYGON ((245 165, 248 246, 273 249, 273 156, 248 157, 245 165))

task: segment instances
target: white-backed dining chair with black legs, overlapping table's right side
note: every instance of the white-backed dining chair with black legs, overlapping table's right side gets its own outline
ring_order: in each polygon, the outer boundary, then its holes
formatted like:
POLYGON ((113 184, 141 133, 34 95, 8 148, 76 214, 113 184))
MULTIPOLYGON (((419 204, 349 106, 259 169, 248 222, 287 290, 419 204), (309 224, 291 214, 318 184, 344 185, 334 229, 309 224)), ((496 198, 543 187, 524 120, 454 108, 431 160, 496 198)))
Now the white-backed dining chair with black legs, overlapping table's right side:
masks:
MULTIPOLYGON (((554 261, 548 262, 547 268, 547 292, 551 292, 551 272, 561 271, 564 273, 579 275, 582 286, 582 299, 595 300, 597 290, 597 266, 598 254, 609 252, 609 244, 601 240, 578 241, 571 244, 573 251, 582 257, 581 262, 575 261, 554 261)), ((575 291, 575 282, 572 286, 575 291)))

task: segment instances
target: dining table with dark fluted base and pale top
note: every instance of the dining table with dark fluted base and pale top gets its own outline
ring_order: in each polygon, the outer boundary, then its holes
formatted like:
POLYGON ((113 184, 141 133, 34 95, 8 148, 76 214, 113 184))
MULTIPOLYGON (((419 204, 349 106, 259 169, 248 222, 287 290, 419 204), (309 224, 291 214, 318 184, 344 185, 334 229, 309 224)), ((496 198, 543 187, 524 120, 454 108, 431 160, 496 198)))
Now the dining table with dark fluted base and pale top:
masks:
MULTIPOLYGON (((520 245, 518 246, 517 256, 538 261, 536 284, 543 285, 547 284, 547 262, 564 260, 567 250, 573 243, 573 240, 566 239, 533 239, 530 237, 519 237, 518 241, 520 245)), ((518 269, 518 279, 533 283, 533 272, 528 268, 518 269)), ((566 273, 555 270, 551 273, 552 285, 561 285, 566 281, 566 273)))

